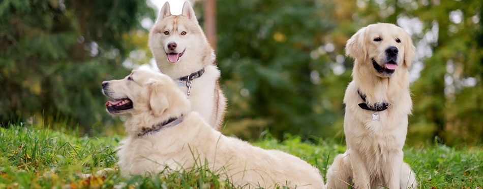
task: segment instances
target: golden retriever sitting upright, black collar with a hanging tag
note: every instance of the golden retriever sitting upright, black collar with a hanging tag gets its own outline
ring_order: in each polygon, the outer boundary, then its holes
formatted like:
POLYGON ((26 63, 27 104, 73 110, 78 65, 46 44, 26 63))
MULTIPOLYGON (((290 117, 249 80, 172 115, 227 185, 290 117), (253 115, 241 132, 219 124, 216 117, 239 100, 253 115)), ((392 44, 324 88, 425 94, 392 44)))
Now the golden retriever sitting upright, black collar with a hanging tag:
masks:
POLYGON ((415 188, 415 174, 403 162, 411 113, 408 67, 415 49, 394 24, 359 29, 346 45, 355 58, 344 103, 347 150, 327 171, 327 188, 415 188))

